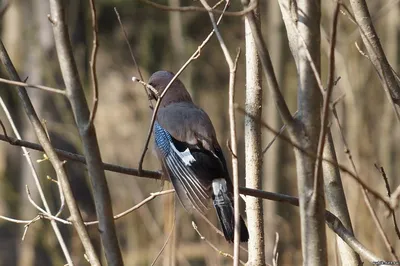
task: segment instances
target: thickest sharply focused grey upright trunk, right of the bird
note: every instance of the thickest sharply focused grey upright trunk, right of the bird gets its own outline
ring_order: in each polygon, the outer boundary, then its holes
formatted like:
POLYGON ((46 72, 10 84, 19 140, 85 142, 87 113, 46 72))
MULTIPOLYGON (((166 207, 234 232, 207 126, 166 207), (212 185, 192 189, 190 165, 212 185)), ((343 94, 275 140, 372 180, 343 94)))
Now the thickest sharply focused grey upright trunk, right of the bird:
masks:
MULTIPOLYGON (((311 154, 317 153, 321 128, 321 91, 315 74, 320 76, 321 1, 280 0, 289 46, 299 75, 299 118, 291 139, 311 154), (295 18, 294 18, 295 16, 295 18), (311 61, 317 73, 314 73, 311 61)), ((314 188, 315 159, 295 149, 300 199, 303 265, 327 265, 325 200, 323 182, 314 188)), ((318 173, 320 180, 322 173, 318 173)))

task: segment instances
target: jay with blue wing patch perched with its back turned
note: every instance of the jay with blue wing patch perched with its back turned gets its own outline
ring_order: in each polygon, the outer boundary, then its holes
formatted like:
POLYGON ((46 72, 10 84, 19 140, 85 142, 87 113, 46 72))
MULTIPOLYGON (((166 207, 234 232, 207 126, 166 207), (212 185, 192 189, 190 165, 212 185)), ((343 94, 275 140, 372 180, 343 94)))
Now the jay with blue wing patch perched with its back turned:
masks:
MULTIPOLYGON (((157 100, 174 76, 169 71, 153 73, 148 80, 150 99, 157 100)), ((163 175, 172 182, 184 209, 204 215, 212 199, 224 237, 232 243, 233 184, 226 161, 209 116, 193 103, 178 78, 161 99, 153 134, 163 175)), ((240 217, 240 241, 247 242, 248 238, 240 217)))

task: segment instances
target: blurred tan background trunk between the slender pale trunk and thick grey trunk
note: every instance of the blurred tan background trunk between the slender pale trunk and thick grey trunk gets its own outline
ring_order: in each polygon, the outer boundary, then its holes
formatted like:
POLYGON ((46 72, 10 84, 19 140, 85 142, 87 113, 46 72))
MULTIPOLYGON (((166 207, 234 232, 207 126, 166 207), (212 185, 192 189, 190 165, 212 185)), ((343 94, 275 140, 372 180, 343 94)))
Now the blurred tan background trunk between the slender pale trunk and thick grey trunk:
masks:
MULTIPOLYGON (((284 71, 287 62, 287 53, 285 49, 284 25, 279 11, 277 1, 268 1, 267 15, 264 16, 267 27, 266 36, 268 36, 268 46, 271 55, 271 61, 274 65, 276 79, 280 85, 282 94, 285 94, 284 71)), ((265 28, 265 27, 264 27, 265 28)), ((270 97, 269 90, 266 91, 266 97, 263 97, 263 106, 266 106, 266 112, 263 112, 264 121, 279 131, 282 122, 279 112, 276 109, 274 100, 270 97)), ((270 132, 263 133, 263 149, 273 139, 275 135, 270 132)), ((266 151, 264 156, 264 189, 267 191, 278 192, 279 187, 283 185, 282 165, 283 165, 283 145, 280 138, 277 138, 274 144, 266 151)), ((265 228, 265 254, 267 262, 272 261, 272 253, 275 245, 275 232, 278 228, 277 202, 264 201, 264 228, 265 228)), ((282 238, 281 238, 282 239, 282 238)))

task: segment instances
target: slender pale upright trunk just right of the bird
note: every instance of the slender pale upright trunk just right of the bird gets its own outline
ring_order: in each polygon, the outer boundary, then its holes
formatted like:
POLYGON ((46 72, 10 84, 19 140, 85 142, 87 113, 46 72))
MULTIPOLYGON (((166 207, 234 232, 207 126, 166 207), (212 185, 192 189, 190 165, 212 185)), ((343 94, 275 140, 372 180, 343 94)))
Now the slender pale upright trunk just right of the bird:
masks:
MULTIPOLYGON (((262 113, 261 68, 257 48, 247 18, 245 19, 245 36, 246 113, 249 114, 245 116, 246 187, 261 189, 262 147, 261 125, 259 123, 262 113)), ((262 200, 255 197, 248 197, 246 199, 246 210, 250 234, 247 265, 262 266, 265 265, 262 200)))

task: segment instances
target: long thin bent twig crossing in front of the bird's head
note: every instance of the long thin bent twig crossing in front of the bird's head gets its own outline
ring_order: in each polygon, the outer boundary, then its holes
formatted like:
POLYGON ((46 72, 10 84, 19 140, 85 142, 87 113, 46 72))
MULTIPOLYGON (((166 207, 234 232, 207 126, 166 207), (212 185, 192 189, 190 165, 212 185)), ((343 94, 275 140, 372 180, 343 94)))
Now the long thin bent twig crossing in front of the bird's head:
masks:
MULTIPOLYGON (((226 8, 228 7, 228 3, 225 4, 224 7, 224 11, 226 10, 226 8)), ((218 19, 217 25, 219 24, 219 22, 221 21, 223 14, 221 14, 221 16, 218 19)), ((164 97, 164 95, 167 93, 168 89, 171 87, 172 83, 178 78, 178 76, 183 72, 183 70, 186 69, 186 67, 193 61, 196 60, 199 56, 200 56, 200 52, 203 49, 203 47, 208 43, 208 41, 211 39, 211 37, 214 35, 214 30, 212 30, 208 36, 204 39, 204 41, 200 44, 200 46, 197 47, 197 50, 192 54, 192 56, 185 62, 185 64, 183 64, 183 66, 178 70, 178 72, 176 72, 175 76, 171 79, 171 81, 167 84, 167 86, 165 87, 164 91, 162 92, 162 94, 160 95, 160 97, 157 99, 157 103, 156 106, 154 107, 153 110, 153 115, 151 117, 151 122, 150 122, 150 127, 149 130, 147 132, 147 138, 146 138, 146 142, 143 148, 143 152, 142 155, 140 156, 140 160, 139 160, 139 167, 138 167, 138 171, 139 174, 142 172, 142 165, 143 165, 143 161, 144 161, 144 156, 146 155, 148 146, 149 146, 149 142, 150 142, 150 138, 151 138, 151 133, 153 132, 153 127, 154 127, 154 123, 156 120, 156 115, 158 112, 158 109, 160 108, 160 103, 162 98, 164 97)))

